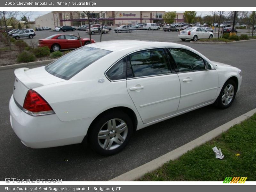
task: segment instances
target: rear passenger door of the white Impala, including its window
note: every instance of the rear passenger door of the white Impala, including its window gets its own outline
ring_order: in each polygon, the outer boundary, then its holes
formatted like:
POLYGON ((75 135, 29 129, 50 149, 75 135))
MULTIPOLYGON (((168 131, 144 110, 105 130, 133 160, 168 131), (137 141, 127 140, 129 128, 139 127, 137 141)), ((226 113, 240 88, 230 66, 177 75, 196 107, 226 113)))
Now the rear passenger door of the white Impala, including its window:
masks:
POLYGON ((144 124, 174 114, 180 102, 180 81, 171 71, 164 48, 128 55, 127 91, 144 124))

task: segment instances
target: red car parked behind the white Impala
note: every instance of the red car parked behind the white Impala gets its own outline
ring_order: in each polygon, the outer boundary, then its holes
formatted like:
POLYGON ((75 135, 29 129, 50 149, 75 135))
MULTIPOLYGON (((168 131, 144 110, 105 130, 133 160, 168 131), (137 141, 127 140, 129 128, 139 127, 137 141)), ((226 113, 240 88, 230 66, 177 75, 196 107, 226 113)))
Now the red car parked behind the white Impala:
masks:
MULTIPOLYGON (((72 34, 57 34, 45 39, 39 39, 39 47, 48 46, 53 52, 61 49, 76 49, 81 47, 79 37, 72 34)), ((81 38, 82 45, 90 44, 89 38, 81 38)), ((96 41, 92 39, 92 43, 96 41)))

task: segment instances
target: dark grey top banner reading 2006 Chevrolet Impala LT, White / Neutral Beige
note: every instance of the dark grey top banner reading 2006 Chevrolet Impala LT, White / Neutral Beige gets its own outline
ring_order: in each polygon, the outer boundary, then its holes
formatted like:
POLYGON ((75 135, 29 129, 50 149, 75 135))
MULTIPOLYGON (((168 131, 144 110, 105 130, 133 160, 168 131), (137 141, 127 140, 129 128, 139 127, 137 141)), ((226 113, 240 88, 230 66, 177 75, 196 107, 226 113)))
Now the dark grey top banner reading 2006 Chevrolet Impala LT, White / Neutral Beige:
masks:
MULTIPOLYGON (((256 7, 252 0, 4 0, 0 7, 256 7)), ((252 8, 253 9, 253 8, 252 8)), ((250 10, 250 11, 255 11, 250 10)))

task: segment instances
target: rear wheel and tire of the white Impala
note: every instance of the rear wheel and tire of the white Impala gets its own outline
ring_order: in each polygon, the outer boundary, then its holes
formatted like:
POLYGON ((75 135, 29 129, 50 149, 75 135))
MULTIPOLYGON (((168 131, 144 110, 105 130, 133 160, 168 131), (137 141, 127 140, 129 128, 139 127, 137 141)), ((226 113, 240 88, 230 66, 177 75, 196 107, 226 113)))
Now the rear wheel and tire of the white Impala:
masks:
POLYGON ((132 120, 126 113, 119 110, 104 113, 90 127, 89 145, 100 155, 113 155, 120 152, 127 145, 132 132, 132 120), (118 125, 121 124, 123 126, 118 128, 118 125), (102 134, 99 134, 100 132, 102 134))

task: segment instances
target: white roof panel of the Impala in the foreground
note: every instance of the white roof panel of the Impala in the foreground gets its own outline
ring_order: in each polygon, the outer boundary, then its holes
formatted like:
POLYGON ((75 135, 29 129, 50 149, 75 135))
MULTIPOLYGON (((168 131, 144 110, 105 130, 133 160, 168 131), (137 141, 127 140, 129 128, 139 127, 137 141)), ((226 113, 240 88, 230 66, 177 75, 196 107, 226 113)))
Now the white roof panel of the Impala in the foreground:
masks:
POLYGON ((105 49, 113 52, 125 51, 133 52, 140 49, 150 49, 155 47, 183 47, 188 48, 186 45, 169 43, 169 42, 157 42, 157 41, 139 41, 139 40, 114 40, 114 41, 102 41, 98 43, 89 44, 87 46, 95 47, 99 49, 105 49))

